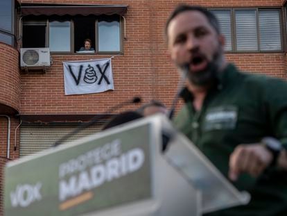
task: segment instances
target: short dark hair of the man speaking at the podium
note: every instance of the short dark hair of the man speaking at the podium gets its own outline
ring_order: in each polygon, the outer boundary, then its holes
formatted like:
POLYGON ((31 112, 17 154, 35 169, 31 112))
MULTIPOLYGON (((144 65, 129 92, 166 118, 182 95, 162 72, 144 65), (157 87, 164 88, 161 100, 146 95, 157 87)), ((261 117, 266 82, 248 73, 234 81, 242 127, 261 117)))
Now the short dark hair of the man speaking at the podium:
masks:
POLYGON ((171 13, 171 15, 168 17, 168 20, 166 22, 166 28, 164 30, 166 39, 168 39, 168 26, 171 23, 171 20, 173 20, 177 15, 180 15, 181 13, 184 13, 186 11, 198 11, 202 13, 203 15, 205 15, 205 17, 207 17, 209 24, 211 24, 211 26, 214 27, 216 33, 218 34, 220 33, 219 22, 216 19, 216 16, 213 13, 211 13, 209 10, 207 10, 206 8, 202 8, 201 6, 189 6, 186 4, 181 4, 177 6, 177 8, 173 10, 173 13, 171 13))

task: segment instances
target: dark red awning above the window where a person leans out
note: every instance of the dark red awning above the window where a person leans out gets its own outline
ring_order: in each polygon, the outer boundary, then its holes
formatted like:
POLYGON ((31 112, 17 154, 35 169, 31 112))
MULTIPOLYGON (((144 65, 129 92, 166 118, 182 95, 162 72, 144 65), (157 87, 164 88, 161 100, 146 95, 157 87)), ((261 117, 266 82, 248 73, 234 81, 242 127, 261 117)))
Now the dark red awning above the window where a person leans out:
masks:
POLYGON ((21 15, 124 15, 128 5, 21 3, 21 15))

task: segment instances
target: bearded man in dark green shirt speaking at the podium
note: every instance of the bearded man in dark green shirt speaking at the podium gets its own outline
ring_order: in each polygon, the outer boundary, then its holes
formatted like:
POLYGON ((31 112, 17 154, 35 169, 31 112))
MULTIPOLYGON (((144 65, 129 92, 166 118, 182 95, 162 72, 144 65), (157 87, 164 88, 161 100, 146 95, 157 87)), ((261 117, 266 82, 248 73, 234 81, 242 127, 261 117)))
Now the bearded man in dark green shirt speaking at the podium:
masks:
POLYGON ((247 206, 209 215, 287 215, 287 172, 280 167, 287 147, 287 83, 227 63, 218 21, 204 8, 177 7, 166 39, 177 69, 188 68, 191 93, 175 126, 252 196, 247 206))

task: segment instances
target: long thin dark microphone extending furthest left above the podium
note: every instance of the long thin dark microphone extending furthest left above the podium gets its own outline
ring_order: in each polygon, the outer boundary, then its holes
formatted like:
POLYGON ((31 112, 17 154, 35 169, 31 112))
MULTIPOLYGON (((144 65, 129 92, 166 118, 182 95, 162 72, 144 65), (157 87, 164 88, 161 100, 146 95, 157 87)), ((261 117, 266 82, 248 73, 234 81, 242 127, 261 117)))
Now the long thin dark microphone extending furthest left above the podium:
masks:
MULTIPOLYGON (((140 103, 141 102, 141 98, 140 97, 134 97, 128 101, 123 101, 115 106, 112 106, 109 110, 107 110, 106 113, 112 113, 116 110, 119 110, 120 108, 122 108, 123 106, 129 105, 130 103, 140 103)), ((54 144, 53 147, 57 147, 58 145, 62 144, 62 142, 66 141, 67 138, 71 137, 72 135, 76 135, 77 133, 79 133, 80 131, 82 131, 83 129, 92 126, 93 124, 95 124, 99 119, 102 119, 104 117, 107 117, 109 114, 104 114, 104 115, 95 115, 91 120, 89 120, 89 122, 85 122, 80 124, 80 126, 78 126, 75 130, 71 131, 70 133, 64 135, 62 138, 60 138, 60 140, 57 140, 54 144)))

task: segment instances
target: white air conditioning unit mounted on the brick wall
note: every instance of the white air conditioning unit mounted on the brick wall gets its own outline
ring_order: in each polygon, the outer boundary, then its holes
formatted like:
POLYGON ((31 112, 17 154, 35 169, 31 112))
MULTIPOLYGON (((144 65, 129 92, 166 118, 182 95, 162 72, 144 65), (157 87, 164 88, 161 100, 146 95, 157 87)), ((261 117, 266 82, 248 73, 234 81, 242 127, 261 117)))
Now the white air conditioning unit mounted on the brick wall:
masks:
POLYGON ((51 66, 49 48, 21 48, 21 68, 42 69, 51 66))

